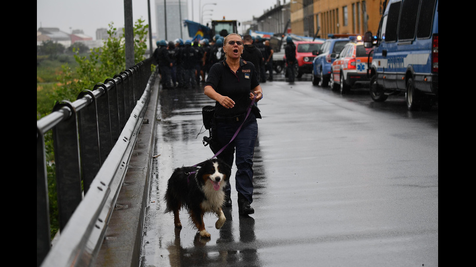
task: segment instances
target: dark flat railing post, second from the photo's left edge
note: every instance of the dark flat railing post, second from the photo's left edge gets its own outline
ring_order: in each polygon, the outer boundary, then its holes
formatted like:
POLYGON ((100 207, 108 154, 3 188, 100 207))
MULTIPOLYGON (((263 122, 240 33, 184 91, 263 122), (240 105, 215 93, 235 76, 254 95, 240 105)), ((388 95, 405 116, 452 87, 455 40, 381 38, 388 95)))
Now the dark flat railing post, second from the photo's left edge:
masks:
POLYGON ((71 113, 66 120, 53 127, 60 231, 83 199, 76 110, 71 102, 62 101, 56 103, 53 112, 63 107, 67 107, 71 113))

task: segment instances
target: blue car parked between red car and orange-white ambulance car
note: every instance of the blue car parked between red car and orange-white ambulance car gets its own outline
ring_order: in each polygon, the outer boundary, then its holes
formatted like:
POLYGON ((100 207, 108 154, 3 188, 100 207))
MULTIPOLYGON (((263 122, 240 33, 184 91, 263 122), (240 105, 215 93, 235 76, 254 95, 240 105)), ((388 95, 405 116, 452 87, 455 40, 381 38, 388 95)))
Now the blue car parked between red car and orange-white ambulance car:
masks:
POLYGON ((312 54, 316 55, 312 61, 312 84, 329 86, 331 65, 348 42, 349 38, 327 39, 320 50, 312 51, 312 54))

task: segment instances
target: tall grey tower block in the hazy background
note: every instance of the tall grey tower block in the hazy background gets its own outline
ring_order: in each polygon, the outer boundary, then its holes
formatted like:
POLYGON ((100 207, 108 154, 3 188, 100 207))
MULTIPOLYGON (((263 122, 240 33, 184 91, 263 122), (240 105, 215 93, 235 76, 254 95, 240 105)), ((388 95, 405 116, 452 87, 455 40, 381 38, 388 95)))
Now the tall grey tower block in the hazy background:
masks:
POLYGON ((155 0, 156 40, 190 39, 183 23, 188 19, 187 7, 188 0, 155 0))

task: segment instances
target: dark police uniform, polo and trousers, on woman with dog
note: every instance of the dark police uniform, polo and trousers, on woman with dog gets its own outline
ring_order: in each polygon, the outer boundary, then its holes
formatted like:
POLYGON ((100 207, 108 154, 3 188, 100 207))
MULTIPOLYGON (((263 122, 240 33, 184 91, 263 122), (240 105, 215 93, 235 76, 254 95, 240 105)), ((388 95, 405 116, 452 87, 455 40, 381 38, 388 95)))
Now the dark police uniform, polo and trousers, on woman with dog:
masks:
MULTIPOLYGON (((218 101, 215 103, 215 118, 212 123, 214 124, 213 128, 216 129, 216 141, 213 146, 210 144, 210 148, 216 154, 230 142, 243 123, 252 102, 250 93, 259 85, 259 81, 253 63, 240 60, 237 72, 233 72, 223 60, 213 64, 210 68, 204 86, 208 85, 217 93, 226 95, 235 101, 235 106, 231 109, 224 108, 218 101)), ((238 200, 241 194, 250 204, 253 202, 253 155, 258 136, 256 118, 260 119, 261 115, 257 107, 254 107, 235 139, 217 156, 232 166, 236 150, 237 173, 235 180, 238 200)), ((229 196, 230 193, 231 186, 228 185, 225 188, 225 194, 229 196)))

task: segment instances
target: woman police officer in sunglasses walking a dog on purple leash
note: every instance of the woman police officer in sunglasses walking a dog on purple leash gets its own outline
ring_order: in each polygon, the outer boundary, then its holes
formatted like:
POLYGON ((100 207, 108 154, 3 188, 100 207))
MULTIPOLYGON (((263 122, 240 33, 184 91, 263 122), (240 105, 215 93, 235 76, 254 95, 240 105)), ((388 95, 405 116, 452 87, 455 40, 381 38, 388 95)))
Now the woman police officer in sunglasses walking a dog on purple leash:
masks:
MULTIPOLYGON (((238 213, 240 215, 253 214, 253 155, 255 142, 258 136, 256 118, 261 118, 259 110, 253 106, 246 121, 248 108, 252 100, 255 102, 263 98, 263 91, 259 85, 255 65, 240 59, 243 52, 241 35, 230 33, 223 41, 225 58, 213 64, 204 85, 204 94, 215 100, 215 118, 212 122, 216 133, 216 142, 212 151, 217 153, 230 142, 243 124, 235 139, 223 150, 218 157, 230 166, 233 165, 236 151, 237 173, 235 175, 238 191, 238 213)), ((231 186, 225 188, 225 206, 232 206, 231 186)))

